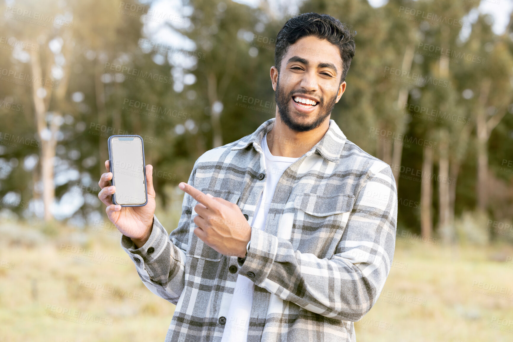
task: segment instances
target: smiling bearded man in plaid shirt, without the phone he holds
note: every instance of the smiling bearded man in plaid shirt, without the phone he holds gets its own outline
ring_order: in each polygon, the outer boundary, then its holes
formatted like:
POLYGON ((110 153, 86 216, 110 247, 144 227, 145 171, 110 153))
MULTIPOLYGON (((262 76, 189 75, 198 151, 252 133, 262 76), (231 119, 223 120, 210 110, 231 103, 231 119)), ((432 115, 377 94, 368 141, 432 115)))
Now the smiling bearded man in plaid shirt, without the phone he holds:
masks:
MULTIPOLYGON (((148 204, 112 205, 144 284, 176 304, 166 341, 356 341, 392 263, 397 191, 390 167, 330 119, 354 55, 337 19, 305 13, 277 36, 275 118, 204 153, 169 237, 148 204)), ((109 170, 108 161, 106 168, 109 170)))

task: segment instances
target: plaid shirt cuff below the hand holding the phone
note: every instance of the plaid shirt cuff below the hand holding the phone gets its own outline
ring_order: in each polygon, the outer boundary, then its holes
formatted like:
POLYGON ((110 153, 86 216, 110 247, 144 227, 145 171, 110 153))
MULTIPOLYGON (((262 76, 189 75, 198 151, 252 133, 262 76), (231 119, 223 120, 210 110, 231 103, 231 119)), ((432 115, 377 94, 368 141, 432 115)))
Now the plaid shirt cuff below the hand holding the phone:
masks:
POLYGON ((155 215, 153 215, 151 234, 147 242, 141 246, 141 248, 137 248, 128 236, 121 236, 121 247, 129 255, 130 259, 132 259, 135 267, 140 270, 146 270, 150 277, 153 277, 151 266, 156 266, 159 257, 169 258, 169 255, 162 253, 168 243, 169 236, 167 231, 155 215))

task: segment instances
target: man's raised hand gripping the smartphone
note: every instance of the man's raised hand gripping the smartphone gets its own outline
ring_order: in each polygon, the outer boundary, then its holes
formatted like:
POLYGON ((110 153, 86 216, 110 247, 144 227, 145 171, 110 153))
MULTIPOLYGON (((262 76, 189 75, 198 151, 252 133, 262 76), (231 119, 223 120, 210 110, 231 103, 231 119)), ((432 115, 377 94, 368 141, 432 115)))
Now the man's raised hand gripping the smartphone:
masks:
POLYGON ((148 240, 153 227, 153 214, 155 213, 155 190, 153 190, 153 167, 146 165, 146 184, 148 190, 148 203, 142 207, 122 207, 112 204, 112 194, 115 186, 110 185, 112 172, 109 168, 109 160, 105 160, 107 172, 102 174, 98 185, 102 190, 98 198, 105 203, 107 216, 123 235, 132 239, 137 248, 142 247, 148 240))

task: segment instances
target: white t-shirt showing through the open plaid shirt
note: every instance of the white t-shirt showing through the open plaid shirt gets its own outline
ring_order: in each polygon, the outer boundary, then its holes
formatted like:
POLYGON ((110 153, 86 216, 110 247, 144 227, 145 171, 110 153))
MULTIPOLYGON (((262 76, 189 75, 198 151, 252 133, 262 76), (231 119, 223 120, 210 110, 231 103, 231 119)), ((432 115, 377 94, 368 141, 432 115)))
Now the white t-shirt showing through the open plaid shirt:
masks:
MULTIPOLYGON (((265 186, 257 210, 253 215, 251 227, 263 230, 274 190, 283 172, 298 158, 272 155, 267 146, 267 133, 262 139, 262 150, 265 156, 265 186)), ((231 298, 230 309, 226 317, 226 325, 221 342, 247 342, 249 314, 253 303, 254 283, 243 275, 238 275, 231 298)))

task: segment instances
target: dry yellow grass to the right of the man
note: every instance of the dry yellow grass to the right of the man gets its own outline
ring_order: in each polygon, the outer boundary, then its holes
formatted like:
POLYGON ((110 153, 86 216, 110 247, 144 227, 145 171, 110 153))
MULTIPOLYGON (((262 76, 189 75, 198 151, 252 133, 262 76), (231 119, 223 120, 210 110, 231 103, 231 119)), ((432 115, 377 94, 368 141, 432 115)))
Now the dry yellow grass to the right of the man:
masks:
POLYGON ((358 341, 513 340, 513 264, 507 256, 513 256, 509 245, 398 242, 396 267, 378 302, 355 323, 358 341))

